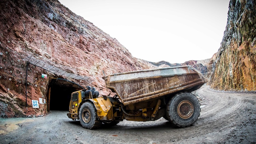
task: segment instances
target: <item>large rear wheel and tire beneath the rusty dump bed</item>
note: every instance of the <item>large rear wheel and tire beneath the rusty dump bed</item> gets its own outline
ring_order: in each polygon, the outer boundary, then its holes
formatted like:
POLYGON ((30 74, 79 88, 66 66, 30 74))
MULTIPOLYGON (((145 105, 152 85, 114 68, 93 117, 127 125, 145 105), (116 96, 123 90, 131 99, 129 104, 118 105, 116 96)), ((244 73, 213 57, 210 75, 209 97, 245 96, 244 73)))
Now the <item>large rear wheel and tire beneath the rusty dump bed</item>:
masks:
POLYGON ((197 97, 188 92, 181 92, 167 103, 166 117, 178 127, 188 127, 197 121, 200 111, 197 97))

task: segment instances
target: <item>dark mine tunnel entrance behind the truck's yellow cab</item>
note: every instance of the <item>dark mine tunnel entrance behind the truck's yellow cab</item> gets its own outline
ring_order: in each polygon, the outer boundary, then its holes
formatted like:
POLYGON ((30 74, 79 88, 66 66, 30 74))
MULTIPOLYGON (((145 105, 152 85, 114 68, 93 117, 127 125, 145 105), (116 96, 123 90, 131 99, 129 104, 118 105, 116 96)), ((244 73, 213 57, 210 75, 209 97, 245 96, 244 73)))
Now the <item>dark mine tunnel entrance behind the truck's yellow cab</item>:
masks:
POLYGON ((83 89, 72 81, 57 78, 51 80, 48 88, 47 110, 69 110, 71 93, 83 89))

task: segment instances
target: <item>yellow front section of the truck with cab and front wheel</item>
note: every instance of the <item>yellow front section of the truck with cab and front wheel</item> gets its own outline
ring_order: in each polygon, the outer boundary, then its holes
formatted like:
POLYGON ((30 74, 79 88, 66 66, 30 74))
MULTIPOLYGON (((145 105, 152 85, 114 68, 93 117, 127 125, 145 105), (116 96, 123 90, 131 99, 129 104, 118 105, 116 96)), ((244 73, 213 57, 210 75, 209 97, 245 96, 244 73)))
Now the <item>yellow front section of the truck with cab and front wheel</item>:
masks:
POLYGON ((80 120, 84 128, 93 129, 101 124, 118 124, 122 121, 121 102, 109 96, 99 96, 95 88, 71 94, 69 113, 72 120, 80 120), (112 102, 111 102, 112 101, 112 102), (114 108, 114 110, 113 110, 114 108))

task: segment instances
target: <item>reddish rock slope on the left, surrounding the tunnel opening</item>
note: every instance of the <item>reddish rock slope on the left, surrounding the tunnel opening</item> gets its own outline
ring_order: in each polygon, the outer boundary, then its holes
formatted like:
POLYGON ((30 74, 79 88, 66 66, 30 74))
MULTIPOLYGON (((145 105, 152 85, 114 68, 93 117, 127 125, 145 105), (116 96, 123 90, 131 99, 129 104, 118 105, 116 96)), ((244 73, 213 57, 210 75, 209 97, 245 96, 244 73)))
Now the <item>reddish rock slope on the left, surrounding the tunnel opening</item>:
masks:
POLYGON ((156 68, 134 58, 115 38, 57 0, 1 0, 0 26, 2 117, 44 115, 51 109, 50 101, 56 107, 65 103, 63 109, 68 110, 66 95, 81 86, 110 93, 104 75, 156 68), (32 100, 39 98, 43 104, 32 108, 32 100))

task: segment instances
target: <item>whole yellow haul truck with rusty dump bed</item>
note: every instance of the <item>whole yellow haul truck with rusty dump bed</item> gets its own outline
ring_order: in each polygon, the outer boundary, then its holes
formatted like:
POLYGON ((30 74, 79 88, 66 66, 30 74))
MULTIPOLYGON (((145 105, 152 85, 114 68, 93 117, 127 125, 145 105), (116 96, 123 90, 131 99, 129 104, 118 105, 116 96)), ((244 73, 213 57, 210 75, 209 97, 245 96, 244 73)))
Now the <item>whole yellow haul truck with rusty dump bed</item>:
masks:
POLYGON ((155 121, 161 117, 178 127, 188 127, 200 115, 200 103, 192 91, 208 82, 192 66, 122 72, 102 77, 115 96, 99 96, 86 86, 71 94, 69 113, 87 129, 120 121, 155 121))

